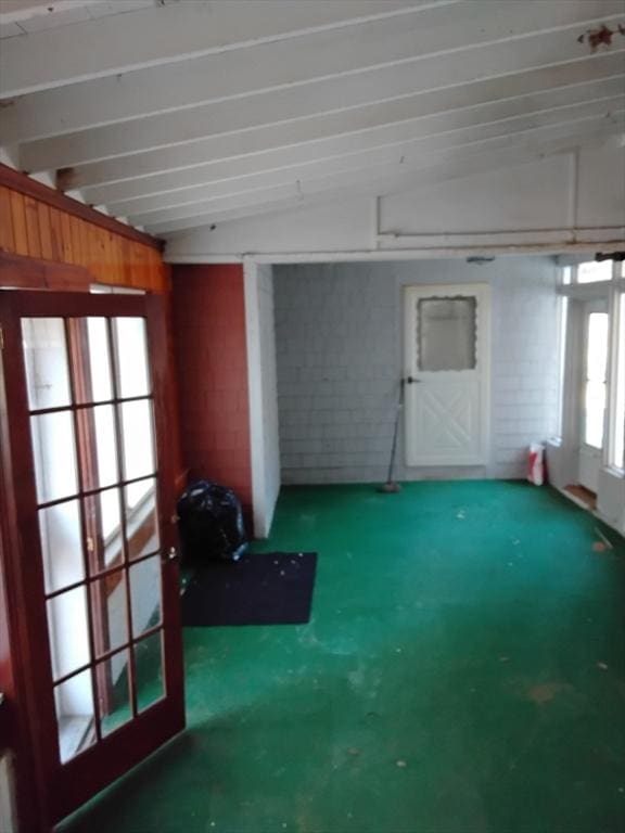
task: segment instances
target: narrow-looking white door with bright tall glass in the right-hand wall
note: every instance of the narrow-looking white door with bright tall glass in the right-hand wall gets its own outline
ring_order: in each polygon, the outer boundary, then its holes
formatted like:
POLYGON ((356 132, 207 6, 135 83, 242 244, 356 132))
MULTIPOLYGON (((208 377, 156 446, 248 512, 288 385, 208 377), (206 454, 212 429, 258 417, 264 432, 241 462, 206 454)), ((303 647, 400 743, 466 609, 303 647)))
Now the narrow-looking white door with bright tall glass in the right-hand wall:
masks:
POLYGON ((579 484, 597 494, 603 461, 610 317, 607 300, 584 305, 579 484))

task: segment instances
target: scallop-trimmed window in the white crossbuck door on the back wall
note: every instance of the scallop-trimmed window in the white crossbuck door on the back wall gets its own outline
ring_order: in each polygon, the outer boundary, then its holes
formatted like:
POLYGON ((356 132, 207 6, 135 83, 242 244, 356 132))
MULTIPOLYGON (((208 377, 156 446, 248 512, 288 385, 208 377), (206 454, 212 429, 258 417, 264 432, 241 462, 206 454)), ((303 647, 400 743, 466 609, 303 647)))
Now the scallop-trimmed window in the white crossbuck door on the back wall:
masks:
POLYGON ((476 306, 474 297, 421 298, 418 302, 420 371, 475 368, 476 306))

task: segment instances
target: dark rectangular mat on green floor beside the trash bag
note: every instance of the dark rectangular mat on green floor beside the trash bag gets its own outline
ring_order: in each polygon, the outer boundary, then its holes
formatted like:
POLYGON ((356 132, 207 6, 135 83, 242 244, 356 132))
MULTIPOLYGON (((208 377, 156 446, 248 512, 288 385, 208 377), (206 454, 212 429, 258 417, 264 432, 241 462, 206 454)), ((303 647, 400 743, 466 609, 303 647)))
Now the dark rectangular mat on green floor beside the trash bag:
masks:
POLYGON ((209 562, 182 595, 182 625, 303 625, 310 619, 316 569, 316 552, 209 562))

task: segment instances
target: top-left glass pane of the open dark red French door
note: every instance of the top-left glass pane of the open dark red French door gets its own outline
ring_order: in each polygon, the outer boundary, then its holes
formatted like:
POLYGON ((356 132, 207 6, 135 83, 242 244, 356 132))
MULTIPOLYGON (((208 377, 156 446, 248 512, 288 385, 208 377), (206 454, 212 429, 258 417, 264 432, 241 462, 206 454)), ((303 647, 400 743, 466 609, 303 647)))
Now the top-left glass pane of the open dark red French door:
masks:
POLYGON ((71 405, 63 319, 23 318, 22 339, 30 410, 71 405))

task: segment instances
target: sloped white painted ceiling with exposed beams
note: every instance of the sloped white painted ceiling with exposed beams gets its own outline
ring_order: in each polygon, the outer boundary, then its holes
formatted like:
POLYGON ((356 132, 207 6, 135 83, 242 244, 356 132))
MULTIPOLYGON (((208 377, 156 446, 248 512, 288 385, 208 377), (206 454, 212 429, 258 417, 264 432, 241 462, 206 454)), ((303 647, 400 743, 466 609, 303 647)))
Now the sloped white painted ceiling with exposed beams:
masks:
POLYGON ((0 30, 3 158, 161 235, 624 130, 625 0, 0 0, 0 30))

